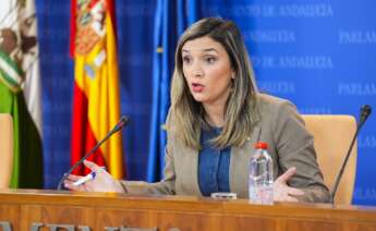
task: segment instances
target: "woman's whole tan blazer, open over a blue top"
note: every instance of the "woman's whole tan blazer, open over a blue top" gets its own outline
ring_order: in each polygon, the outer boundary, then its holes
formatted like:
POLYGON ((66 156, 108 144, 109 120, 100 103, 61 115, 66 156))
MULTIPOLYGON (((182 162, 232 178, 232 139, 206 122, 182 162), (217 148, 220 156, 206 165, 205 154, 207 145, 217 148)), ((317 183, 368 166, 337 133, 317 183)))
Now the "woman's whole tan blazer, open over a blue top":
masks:
MULTIPOLYGON (((230 191, 240 198, 248 197, 248 160, 257 141, 268 144, 277 178, 290 167, 296 173, 288 184, 302 189, 302 202, 329 202, 329 191, 316 161, 313 136, 295 107, 283 99, 257 94, 258 118, 248 141, 242 147, 231 148, 230 191)), ((165 179, 157 183, 122 181, 124 190, 132 194, 170 194, 202 196, 198 186, 198 151, 184 146, 168 134, 165 156, 165 179)))

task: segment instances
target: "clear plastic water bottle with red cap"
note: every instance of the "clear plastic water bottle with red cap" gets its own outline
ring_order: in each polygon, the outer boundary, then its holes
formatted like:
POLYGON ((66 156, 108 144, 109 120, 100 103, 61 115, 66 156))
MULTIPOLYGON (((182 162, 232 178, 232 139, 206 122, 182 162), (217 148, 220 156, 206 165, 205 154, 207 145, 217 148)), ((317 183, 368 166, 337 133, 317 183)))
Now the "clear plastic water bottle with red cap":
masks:
POLYGON ((250 159, 248 192, 254 204, 272 205, 272 159, 267 151, 268 145, 257 142, 255 153, 250 159))

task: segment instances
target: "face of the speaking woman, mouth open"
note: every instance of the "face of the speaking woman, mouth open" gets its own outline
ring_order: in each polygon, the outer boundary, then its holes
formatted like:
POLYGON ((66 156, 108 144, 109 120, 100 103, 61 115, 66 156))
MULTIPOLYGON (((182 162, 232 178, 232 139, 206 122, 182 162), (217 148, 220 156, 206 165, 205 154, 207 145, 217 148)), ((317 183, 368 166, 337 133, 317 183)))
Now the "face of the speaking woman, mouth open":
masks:
POLYGON ((234 73, 222 45, 207 36, 189 40, 182 47, 182 60, 193 98, 204 106, 225 106, 234 73))

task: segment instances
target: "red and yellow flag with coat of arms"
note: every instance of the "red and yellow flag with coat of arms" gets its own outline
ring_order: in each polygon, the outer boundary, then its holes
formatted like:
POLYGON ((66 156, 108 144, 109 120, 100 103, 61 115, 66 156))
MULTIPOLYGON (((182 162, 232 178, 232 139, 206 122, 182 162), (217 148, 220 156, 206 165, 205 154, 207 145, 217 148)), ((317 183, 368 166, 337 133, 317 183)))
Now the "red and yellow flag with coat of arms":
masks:
MULTIPOLYGON (((112 0, 72 0, 71 54, 75 62, 72 165, 78 161, 120 119, 118 61, 112 0)), ((121 133, 89 158, 123 177, 121 133)), ((85 172, 86 171, 86 172, 85 172)), ((86 174, 81 167, 75 174, 86 174)))

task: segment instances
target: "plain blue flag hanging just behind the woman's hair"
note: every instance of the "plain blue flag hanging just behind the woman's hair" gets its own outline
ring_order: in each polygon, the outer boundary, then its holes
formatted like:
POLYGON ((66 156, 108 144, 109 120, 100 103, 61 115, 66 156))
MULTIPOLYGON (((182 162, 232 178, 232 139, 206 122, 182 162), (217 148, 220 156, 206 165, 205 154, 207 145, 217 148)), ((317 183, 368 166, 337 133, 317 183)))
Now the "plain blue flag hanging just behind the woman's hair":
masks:
POLYGON ((147 181, 163 177, 167 134, 161 130, 170 107, 174 49, 183 31, 198 20, 198 0, 157 0, 154 25, 153 109, 147 181))

